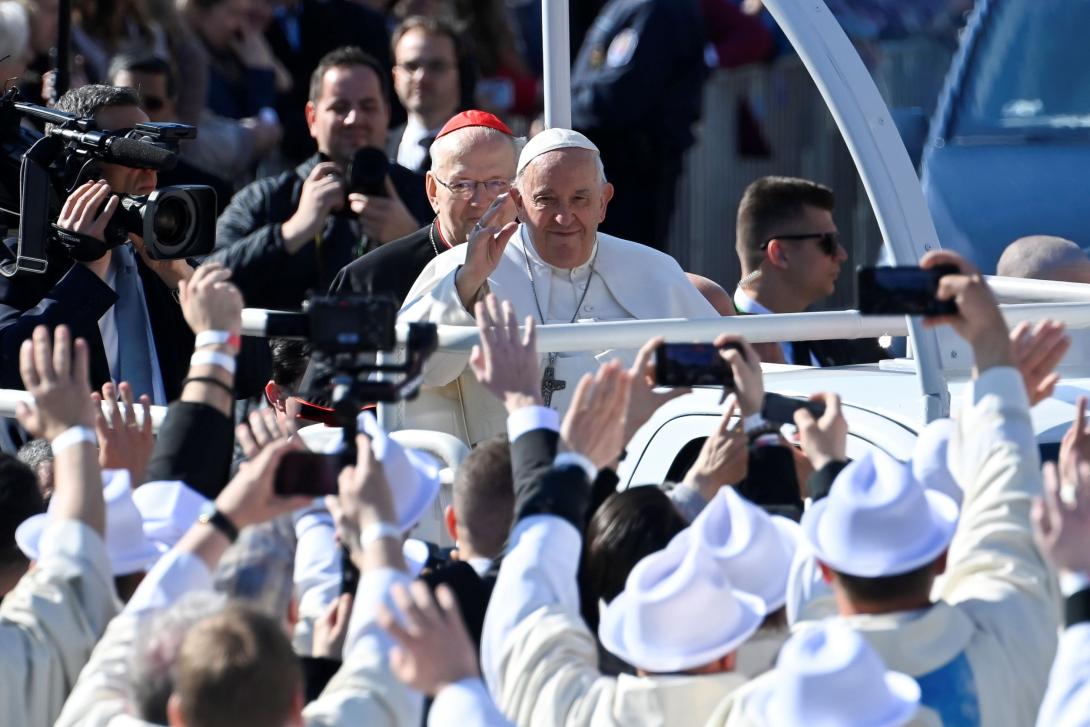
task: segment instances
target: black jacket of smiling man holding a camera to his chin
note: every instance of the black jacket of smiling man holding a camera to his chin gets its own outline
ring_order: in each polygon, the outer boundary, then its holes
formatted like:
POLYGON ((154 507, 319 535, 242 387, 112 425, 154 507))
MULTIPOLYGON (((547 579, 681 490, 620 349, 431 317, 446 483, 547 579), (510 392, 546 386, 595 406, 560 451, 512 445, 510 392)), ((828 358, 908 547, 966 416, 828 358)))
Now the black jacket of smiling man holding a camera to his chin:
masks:
MULTIPOLYGON (((294 171, 257 180, 239 191, 219 218, 216 252, 206 259, 231 269, 232 280, 251 307, 298 311, 310 291, 326 291, 338 270, 363 252, 354 220, 330 215, 317 246, 306 244, 294 255, 283 246, 280 223, 299 207, 303 180, 318 162, 311 157, 294 171)), ((432 219, 424 178, 396 163, 390 180, 421 225, 432 219)))

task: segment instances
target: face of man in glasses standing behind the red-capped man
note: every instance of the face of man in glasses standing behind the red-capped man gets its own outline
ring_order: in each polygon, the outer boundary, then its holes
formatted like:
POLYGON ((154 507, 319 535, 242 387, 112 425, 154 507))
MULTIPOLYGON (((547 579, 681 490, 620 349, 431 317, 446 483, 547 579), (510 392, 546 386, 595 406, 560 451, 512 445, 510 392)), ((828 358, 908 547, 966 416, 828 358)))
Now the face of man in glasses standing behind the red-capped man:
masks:
POLYGON ((393 87, 411 113, 443 123, 458 110, 458 58, 453 41, 413 28, 393 49, 393 87))

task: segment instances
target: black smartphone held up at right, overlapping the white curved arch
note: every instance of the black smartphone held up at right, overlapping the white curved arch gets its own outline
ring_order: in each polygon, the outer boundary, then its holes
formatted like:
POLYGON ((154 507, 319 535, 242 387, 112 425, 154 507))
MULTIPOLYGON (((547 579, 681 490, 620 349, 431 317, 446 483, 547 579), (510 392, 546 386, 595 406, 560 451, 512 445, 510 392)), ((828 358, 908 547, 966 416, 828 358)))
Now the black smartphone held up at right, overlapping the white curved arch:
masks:
POLYGON ((957 313, 957 303, 935 299, 938 280, 957 275, 954 265, 920 267, 861 267, 856 302, 863 315, 942 316, 957 313))

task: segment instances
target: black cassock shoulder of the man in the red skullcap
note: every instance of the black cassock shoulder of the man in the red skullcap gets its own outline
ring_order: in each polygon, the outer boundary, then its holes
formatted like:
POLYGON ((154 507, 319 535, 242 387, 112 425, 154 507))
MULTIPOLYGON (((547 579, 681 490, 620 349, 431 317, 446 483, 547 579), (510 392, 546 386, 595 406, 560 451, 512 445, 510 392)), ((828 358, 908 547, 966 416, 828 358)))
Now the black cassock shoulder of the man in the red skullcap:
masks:
MULTIPOLYGON (((429 237, 434 228, 433 222, 352 260, 334 278, 329 292, 339 295, 390 295, 401 307, 424 266, 435 259, 435 247, 429 237)), ((438 232, 434 234, 439 252, 443 252, 446 247, 438 242, 438 232)))

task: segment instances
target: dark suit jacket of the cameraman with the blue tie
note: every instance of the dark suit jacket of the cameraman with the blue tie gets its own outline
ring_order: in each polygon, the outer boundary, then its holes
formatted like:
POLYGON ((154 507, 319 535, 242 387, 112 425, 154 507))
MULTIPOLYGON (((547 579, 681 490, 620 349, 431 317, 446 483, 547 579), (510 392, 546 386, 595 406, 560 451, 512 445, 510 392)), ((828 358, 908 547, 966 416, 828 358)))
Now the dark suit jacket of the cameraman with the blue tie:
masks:
MULTIPOLYGON (((168 400, 181 393, 182 379, 193 353, 193 332, 173 293, 136 256, 144 298, 152 320, 159 371, 168 400)), ((0 385, 22 389, 19 349, 36 326, 50 328, 64 324, 73 337, 86 339, 90 347, 90 385, 101 388, 110 380, 110 367, 98 331, 98 319, 118 300, 118 294, 87 267, 73 263, 58 252, 48 253, 44 275, 20 274, 0 277, 0 385)))

